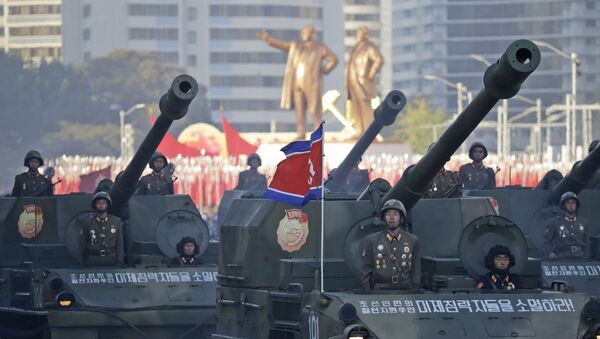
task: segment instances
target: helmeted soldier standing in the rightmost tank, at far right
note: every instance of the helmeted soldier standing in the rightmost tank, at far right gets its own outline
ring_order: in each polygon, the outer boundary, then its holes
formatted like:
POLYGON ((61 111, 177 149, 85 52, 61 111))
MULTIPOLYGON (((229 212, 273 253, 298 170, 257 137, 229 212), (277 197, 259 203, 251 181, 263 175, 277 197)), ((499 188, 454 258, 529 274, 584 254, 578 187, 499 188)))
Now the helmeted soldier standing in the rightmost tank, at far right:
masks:
POLYGON ((543 252, 549 259, 588 259, 590 257, 589 222, 577 216, 579 199, 573 192, 560 197, 562 215, 546 226, 543 252))

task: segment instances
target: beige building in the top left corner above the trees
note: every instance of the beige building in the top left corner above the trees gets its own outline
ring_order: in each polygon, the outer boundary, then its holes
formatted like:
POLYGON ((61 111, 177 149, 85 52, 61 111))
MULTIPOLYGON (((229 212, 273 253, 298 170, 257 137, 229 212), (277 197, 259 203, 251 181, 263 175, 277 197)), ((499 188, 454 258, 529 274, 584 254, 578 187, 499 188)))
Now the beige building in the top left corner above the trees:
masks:
POLYGON ((0 0, 0 48, 26 61, 61 58, 61 0, 0 0))

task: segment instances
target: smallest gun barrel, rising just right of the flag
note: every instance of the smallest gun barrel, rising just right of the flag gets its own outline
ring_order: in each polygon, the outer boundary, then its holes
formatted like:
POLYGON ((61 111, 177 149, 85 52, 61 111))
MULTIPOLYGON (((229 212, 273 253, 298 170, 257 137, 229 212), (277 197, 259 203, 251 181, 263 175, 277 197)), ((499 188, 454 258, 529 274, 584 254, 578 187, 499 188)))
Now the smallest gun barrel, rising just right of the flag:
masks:
POLYGON ((340 166, 330 176, 325 187, 332 191, 339 190, 343 185, 352 168, 360 161, 360 158, 365 153, 369 145, 373 142, 377 134, 381 132, 384 126, 389 126, 394 123, 398 113, 406 105, 406 96, 404 93, 393 90, 386 95, 385 99, 379 104, 374 111, 375 119, 369 125, 367 130, 361 135, 350 153, 344 158, 340 166))

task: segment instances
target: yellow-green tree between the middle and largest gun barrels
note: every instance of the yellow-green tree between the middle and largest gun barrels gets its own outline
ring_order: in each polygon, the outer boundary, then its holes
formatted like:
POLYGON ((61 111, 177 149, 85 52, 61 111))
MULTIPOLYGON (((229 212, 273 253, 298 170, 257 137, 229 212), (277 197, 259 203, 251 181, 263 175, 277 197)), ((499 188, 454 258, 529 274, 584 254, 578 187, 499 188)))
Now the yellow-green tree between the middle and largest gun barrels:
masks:
POLYGON ((430 101, 418 98, 409 103, 396 122, 391 139, 407 143, 415 153, 425 153, 433 140, 431 125, 445 120, 441 108, 433 108, 430 101))

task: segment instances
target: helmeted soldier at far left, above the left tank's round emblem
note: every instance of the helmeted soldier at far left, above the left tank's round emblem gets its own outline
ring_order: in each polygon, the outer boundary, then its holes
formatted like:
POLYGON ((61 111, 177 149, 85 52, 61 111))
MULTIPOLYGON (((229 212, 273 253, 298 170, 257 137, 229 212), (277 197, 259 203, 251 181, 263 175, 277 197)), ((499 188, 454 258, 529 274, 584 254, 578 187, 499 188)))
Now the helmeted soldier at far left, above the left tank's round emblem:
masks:
POLYGON ((44 159, 40 152, 32 150, 25 155, 23 166, 29 170, 15 177, 13 197, 40 197, 54 195, 52 182, 40 174, 40 166, 44 166, 44 159))

